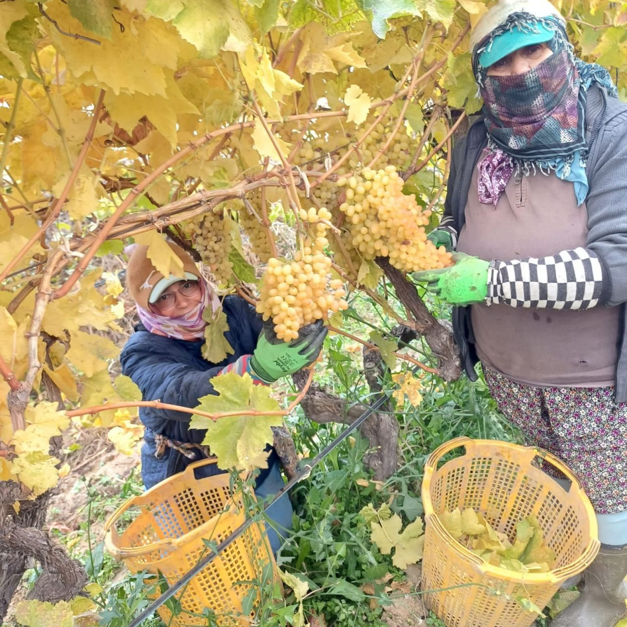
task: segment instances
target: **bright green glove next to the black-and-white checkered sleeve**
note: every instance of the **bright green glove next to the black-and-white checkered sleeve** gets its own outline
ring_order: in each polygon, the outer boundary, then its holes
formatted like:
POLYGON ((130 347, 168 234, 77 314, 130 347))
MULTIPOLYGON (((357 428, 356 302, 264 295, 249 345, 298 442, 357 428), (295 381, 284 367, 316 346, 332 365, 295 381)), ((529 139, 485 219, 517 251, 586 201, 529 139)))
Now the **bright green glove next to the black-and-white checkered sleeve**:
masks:
POLYGON ((427 282, 426 289, 438 294, 450 305, 472 305, 488 295, 489 261, 478 257, 453 253, 455 265, 440 270, 423 270, 411 275, 414 281, 427 282))

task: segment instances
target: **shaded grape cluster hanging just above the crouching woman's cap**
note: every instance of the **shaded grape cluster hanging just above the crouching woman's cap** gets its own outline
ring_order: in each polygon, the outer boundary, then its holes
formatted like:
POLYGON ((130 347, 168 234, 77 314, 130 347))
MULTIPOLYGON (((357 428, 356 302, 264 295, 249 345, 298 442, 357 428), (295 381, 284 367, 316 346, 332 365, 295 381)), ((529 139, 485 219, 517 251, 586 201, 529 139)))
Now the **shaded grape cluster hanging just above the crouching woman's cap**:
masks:
POLYGON ((219 208, 192 218, 184 226, 184 233, 216 281, 228 283, 233 273, 233 264, 229 261, 231 220, 224 216, 224 210, 219 208))

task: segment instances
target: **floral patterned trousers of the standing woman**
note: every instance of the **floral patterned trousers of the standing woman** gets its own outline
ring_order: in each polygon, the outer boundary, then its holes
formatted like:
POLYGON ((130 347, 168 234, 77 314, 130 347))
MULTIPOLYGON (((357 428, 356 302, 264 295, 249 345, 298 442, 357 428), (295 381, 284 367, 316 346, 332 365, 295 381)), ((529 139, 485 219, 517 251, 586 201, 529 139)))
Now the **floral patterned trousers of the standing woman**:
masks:
POLYGON ((627 510, 627 403, 613 387, 532 387, 483 368, 498 409, 579 477, 598 514, 627 510))

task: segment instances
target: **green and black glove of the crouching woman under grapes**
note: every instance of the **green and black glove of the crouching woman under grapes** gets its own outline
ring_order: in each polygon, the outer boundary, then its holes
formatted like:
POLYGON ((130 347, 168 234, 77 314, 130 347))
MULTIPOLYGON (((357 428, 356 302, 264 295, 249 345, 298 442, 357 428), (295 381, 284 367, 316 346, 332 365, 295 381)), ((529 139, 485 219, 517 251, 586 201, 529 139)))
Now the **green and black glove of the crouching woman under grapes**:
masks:
POLYGON ((314 363, 326 335, 327 327, 317 320, 300 329, 297 339, 283 342, 275 335, 272 320, 266 320, 250 359, 250 369, 265 383, 287 377, 314 363))

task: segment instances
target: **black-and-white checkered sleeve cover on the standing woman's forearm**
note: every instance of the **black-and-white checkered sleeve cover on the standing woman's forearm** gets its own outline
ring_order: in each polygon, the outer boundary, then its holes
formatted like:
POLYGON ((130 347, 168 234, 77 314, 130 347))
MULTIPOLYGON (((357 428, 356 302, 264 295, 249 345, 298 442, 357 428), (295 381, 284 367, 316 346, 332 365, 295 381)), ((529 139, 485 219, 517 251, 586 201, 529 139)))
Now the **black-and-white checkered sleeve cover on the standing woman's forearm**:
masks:
POLYGON ((492 261, 488 268, 488 304, 589 309, 598 305, 602 292, 601 262, 586 248, 540 259, 492 261))

